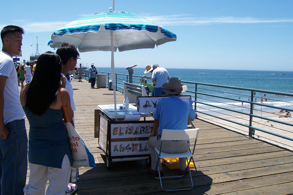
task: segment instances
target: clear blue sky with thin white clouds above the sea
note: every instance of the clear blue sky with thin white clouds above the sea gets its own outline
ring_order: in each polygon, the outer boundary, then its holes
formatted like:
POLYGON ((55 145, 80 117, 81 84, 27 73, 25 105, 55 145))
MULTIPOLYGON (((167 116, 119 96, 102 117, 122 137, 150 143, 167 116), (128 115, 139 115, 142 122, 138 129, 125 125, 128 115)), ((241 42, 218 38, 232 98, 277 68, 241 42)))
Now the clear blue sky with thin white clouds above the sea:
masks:
MULTIPOLYGON (((0 2, 0 28, 25 30, 21 61, 35 53, 36 36, 39 53, 54 51, 47 46, 52 31, 113 6, 113 0, 0 2)), ((293 71, 291 0, 116 0, 115 10, 140 15, 177 35, 177 41, 155 49, 117 51, 115 67, 158 63, 165 68, 293 71)), ((80 58, 78 63, 88 67, 91 62, 111 64, 106 51, 80 53, 80 58)))

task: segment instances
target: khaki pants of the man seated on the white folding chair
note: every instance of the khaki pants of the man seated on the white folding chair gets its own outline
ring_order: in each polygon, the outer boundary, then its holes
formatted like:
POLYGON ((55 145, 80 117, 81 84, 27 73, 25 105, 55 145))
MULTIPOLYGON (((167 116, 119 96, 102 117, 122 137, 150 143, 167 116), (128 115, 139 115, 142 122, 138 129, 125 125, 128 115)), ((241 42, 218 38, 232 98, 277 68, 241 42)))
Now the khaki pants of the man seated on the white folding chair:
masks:
MULTIPOLYGON (((155 170, 157 165, 156 150, 155 148, 160 149, 161 147, 161 135, 153 136, 149 138, 147 142, 149 151, 151 154, 151 169, 155 170)), ((189 140, 163 140, 162 152, 167 153, 182 153, 188 151, 190 147, 189 140)), ((185 170, 186 168, 186 158, 179 158, 179 168, 185 170)), ((162 170, 162 164, 159 162, 159 170, 162 170)))

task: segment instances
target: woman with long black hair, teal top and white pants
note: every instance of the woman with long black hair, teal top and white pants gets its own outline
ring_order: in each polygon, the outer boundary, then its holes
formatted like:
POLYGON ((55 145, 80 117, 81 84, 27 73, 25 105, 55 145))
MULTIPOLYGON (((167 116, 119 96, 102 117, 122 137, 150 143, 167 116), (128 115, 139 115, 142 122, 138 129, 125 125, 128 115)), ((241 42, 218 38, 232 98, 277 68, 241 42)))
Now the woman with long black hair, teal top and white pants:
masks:
POLYGON ((58 55, 51 51, 41 54, 31 83, 20 91, 20 102, 30 123, 30 177, 23 188, 25 194, 66 194, 73 160, 63 122, 62 101, 69 119, 73 111, 68 91, 60 87, 61 78, 63 84, 66 82, 60 75, 61 69, 58 55))

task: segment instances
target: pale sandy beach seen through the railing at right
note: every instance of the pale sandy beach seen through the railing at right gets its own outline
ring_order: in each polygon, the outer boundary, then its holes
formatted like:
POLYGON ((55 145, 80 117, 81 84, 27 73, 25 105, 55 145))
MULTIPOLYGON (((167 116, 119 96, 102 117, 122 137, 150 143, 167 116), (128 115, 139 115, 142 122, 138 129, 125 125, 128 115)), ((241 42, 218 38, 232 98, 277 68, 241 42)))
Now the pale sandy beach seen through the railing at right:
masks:
MULTIPOLYGON (((279 121, 284 121, 287 123, 291 123, 293 124, 293 118, 292 117, 288 117, 288 118, 279 118, 279 116, 282 116, 284 114, 286 114, 285 112, 260 112, 260 111, 254 111, 254 114, 258 115, 258 116, 263 116, 263 117, 267 117, 270 119, 274 119, 274 120, 279 120, 279 121)), ((233 120, 236 121, 238 123, 242 123, 242 124, 249 124, 249 116, 246 115, 241 115, 238 113, 232 113, 232 112, 227 112, 227 113, 221 113, 221 114, 216 114, 219 117, 225 118, 225 119, 229 119, 229 120, 233 120)), ((212 116, 208 116, 202 113, 198 113, 198 117, 199 119, 204 119, 208 122, 211 122, 213 124, 222 126, 224 128, 242 133, 244 135, 248 135, 248 128, 244 127, 242 125, 239 124, 234 124, 231 123, 229 121, 225 121, 225 120, 221 120, 218 119, 216 117, 212 117, 212 116)), ((252 120, 252 126, 257 127, 257 128, 261 128, 263 130, 269 131, 269 132, 273 132, 273 133, 277 133, 283 136, 287 136, 287 137, 293 137, 293 127, 289 126, 289 125, 285 125, 285 124, 279 124, 277 122, 272 122, 269 120, 264 120, 264 119, 259 119, 254 117, 252 120)), ((291 151, 293 151, 293 141, 291 140, 287 140, 281 137, 277 137, 274 135, 270 135, 264 132, 260 132, 255 130, 254 133, 254 137, 256 139, 259 140, 263 140, 266 142, 269 142, 271 144, 275 144, 278 146, 281 146, 283 148, 287 148, 290 149, 291 151)))

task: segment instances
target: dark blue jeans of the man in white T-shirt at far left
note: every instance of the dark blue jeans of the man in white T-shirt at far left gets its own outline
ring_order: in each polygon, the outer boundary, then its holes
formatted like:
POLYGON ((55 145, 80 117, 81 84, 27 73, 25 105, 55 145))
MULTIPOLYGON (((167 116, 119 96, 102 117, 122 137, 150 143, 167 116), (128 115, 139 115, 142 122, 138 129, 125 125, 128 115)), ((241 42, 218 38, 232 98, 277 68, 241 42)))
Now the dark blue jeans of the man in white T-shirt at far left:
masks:
POLYGON ((27 180, 27 131, 24 119, 6 124, 10 133, 0 137, 0 194, 24 194, 27 180))

